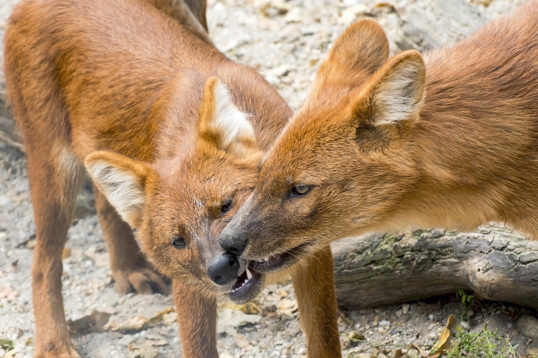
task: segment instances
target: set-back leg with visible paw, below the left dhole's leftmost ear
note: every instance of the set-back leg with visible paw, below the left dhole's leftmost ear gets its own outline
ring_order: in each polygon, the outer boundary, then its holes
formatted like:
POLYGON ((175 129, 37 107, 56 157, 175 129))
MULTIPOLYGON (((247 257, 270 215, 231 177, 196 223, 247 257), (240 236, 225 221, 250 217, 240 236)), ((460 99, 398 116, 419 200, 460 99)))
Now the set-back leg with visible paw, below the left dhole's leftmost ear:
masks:
POLYGON ((107 198, 94 185, 95 205, 110 253, 110 268, 119 293, 153 293, 168 295, 170 288, 155 273, 134 240, 131 227, 122 220, 107 198))

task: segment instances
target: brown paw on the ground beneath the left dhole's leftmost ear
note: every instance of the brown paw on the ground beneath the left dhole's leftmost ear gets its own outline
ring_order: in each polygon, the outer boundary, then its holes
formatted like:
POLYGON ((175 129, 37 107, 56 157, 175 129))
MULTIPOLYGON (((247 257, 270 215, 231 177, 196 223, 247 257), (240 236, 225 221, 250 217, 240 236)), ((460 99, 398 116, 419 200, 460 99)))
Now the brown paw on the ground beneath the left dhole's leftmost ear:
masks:
POLYGON ((112 276, 116 281, 116 290, 123 295, 130 292, 143 295, 150 293, 168 295, 170 293, 170 285, 165 278, 147 266, 114 270, 112 276))

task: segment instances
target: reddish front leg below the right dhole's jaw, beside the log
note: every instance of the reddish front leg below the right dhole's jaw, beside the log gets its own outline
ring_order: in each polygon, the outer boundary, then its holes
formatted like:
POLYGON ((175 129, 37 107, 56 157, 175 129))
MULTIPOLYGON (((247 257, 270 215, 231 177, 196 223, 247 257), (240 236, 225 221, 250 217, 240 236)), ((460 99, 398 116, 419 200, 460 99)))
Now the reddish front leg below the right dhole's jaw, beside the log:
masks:
POLYGON ((305 261, 293 270, 292 281, 308 358, 342 357, 330 246, 305 261))

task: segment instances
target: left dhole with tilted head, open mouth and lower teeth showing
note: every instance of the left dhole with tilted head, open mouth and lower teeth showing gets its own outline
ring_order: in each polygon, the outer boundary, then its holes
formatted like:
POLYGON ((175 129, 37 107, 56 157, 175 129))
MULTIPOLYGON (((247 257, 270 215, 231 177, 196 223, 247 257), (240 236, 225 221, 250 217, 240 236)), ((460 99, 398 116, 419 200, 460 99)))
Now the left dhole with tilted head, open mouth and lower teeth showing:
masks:
MULTIPOLYGON (((78 356, 63 313, 61 253, 84 166, 118 291, 168 291, 138 241, 173 279, 184 356, 218 356, 217 297, 242 303, 259 292, 217 237, 291 111, 261 75, 211 45, 185 4, 169 7, 177 3, 23 0, 11 16, 5 76, 36 222, 36 357, 78 356)), ((205 2, 188 3, 205 24, 205 2)), ((318 260, 330 265, 330 252, 318 260)), ((294 279, 313 280, 309 272, 294 279)), ((306 332, 309 352, 325 342, 339 349, 333 313, 329 332, 306 332)))

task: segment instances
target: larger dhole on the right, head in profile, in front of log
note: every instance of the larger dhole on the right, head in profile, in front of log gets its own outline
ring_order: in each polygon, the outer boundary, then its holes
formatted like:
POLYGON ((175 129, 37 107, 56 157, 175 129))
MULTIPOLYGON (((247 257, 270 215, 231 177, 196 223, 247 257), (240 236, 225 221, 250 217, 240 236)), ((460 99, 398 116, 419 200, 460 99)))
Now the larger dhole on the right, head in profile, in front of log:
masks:
MULTIPOLYGON (((220 242, 244 266, 269 257, 261 275, 349 235, 492 220, 538 238, 536 0, 424 57, 388 59, 376 22, 351 25, 220 242)), ((312 284, 312 301, 331 291, 312 284)))

